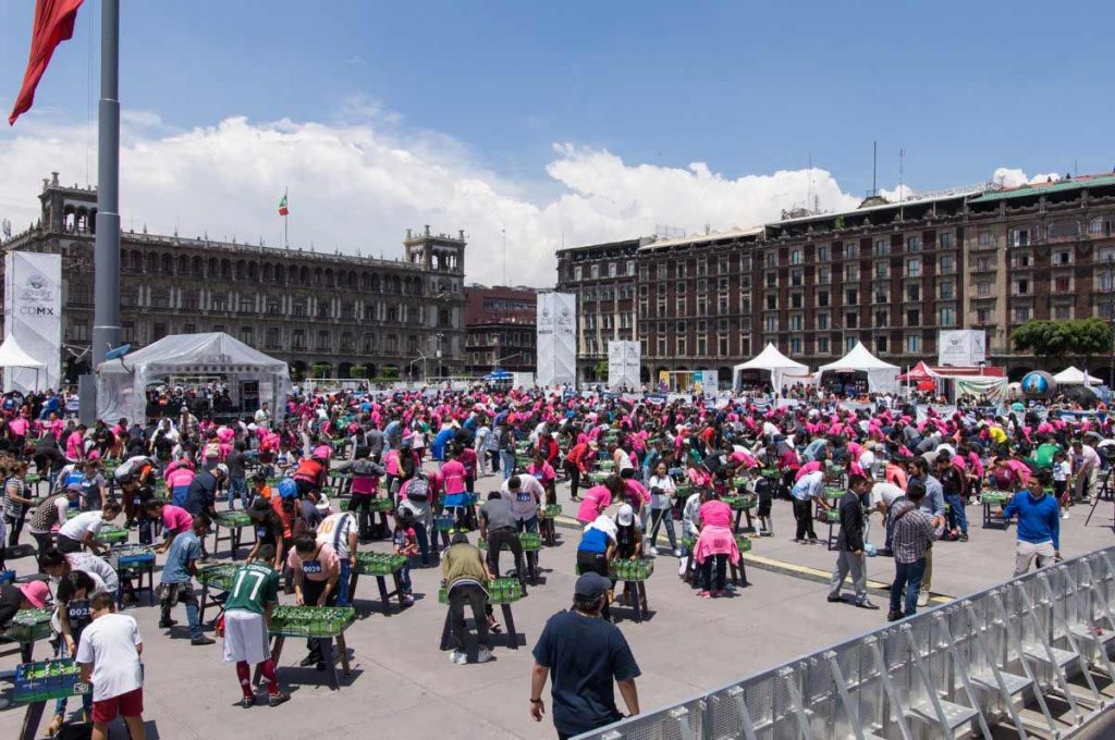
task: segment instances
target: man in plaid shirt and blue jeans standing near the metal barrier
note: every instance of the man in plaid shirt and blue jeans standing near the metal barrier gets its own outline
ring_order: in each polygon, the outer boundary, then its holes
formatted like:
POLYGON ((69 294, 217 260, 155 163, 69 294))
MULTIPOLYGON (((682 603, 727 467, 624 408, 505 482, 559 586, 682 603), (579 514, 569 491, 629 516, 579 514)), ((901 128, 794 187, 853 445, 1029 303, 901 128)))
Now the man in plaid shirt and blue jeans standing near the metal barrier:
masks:
POLYGON ((921 576, 925 572, 925 554, 935 539, 933 518, 921 508, 924 500, 925 487, 917 483, 910 484, 905 496, 898 499, 891 510, 894 582, 891 584, 888 622, 913 616, 918 612, 918 593, 921 591, 921 576), (905 612, 900 608, 903 588, 905 612))

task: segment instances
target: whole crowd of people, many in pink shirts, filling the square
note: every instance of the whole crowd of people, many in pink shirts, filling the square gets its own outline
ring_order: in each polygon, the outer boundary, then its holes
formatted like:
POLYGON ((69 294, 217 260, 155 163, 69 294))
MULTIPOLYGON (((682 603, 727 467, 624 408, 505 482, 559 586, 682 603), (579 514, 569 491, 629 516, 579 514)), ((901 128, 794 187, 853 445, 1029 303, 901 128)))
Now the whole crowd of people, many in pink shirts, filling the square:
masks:
MULTIPOLYGON (((961 546, 973 536, 966 512, 985 489, 1007 494, 1002 515, 1018 518, 1016 573, 1035 561, 1054 562, 1061 518, 1098 495, 1106 451, 1115 449, 1105 413, 1063 419, 1046 407, 1037 412, 971 402, 935 410, 890 397, 847 403, 788 396, 779 405, 758 395, 656 401, 483 387, 308 391, 274 413, 261 408, 226 423, 180 403, 149 421, 93 427, 65 417, 65 405, 49 398, 21 399, 4 405, 0 423, 0 536, 8 554, 18 553, 29 529, 37 569, 49 575, 54 595, 38 581, 9 587, 0 592, 0 617, 52 598, 59 653, 91 671, 85 709, 96 731, 104 732, 118 711, 133 738, 142 738, 142 722, 134 728, 142 678, 122 678, 130 669, 109 668, 101 658, 116 661, 128 641, 142 650, 134 620, 103 619, 113 613, 118 587, 125 602, 130 596, 103 557, 107 545, 98 534, 107 524, 123 516, 140 544, 165 555, 159 627, 175 625, 174 608, 182 604, 191 643, 205 646, 214 641, 198 617, 194 586, 210 557, 204 535, 219 508, 246 512, 255 543, 225 603, 223 654, 235 664, 244 707, 258 703, 252 666, 266 679, 266 703, 278 705, 289 694, 274 675, 266 625, 281 592, 298 605, 347 605, 358 549, 384 541, 377 546, 408 558, 400 574, 406 605, 414 604, 410 568, 439 565, 452 661, 468 662, 468 606, 478 633, 476 662, 484 663, 494 656, 491 634, 501 630, 486 592, 501 575, 501 549, 512 552, 525 594, 518 534, 552 526, 546 510, 568 502, 581 527, 575 565, 582 577, 573 608, 547 623, 535 648, 531 711, 535 718, 544 711, 540 692, 549 672, 555 727, 569 736, 620 715, 613 679, 628 710, 638 711, 638 666, 620 644, 622 633, 598 626, 612 620, 611 605, 638 598, 614 593, 618 561, 672 556, 679 576, 694 574, 698 597, 730 591, 727 566, 740 558, 739 533, 723 499, 754 502, 759 537, 774 536, 773 508, 787 502, 793 539, 806 546, 820 542, 814 523, 833 508, 840 530, 828 601, 845 601, 851 575, 852 603, 876 608, 867 596, 866 558, 892 556, 888 619, 894 621, 928 604, 933 548, 942 541, 961 546), (477 495, 485 476, 502 483, 477 495), (831 495, 834 489, 838 495, 831 495), (389 507, 374 505, 382 498, 391 499, 389 507), (875 541, 885 533, 882 547, 872 544, 873 516, 875 541), (435 517, 453 520, 452 543, 440 555, 432 542, 435 517), (477 537, 487 543, 486 554, 477 537), (98 624, 104 626, 94 629, 98 624), (563 651, 576 641, 602 645, 608 661, 572 661, 563 651), (571 661, 575 670, 599 673, 590 689, 559 668, 571 661), (595 693, 586 699, 579 685, 595 693)), ((301 664, 326 670, 331 659, 310 640, 301 664)), ((130 658, 120 660, 130 665, 130 658)), ((60 705, 52 732, 64 713, 60 705)))

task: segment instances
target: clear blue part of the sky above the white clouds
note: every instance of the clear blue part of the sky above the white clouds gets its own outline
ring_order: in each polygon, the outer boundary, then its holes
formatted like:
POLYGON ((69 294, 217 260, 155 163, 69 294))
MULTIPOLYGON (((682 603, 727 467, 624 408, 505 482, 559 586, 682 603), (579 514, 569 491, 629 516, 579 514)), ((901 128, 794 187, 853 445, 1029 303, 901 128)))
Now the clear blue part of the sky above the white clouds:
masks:
MULTIPOLYGON (((812 156, 855 196, 871 186, 874 139, 888 187, 900 147, 920 189, 999 167, 1115 165, 1115 10, 1103 2, 124 4, 122 98, 159 116, 145 134, 156 140, 233 116, 342 125, 356 100, 378 107, 366 118, 395 144, 436 147, 543 208, 539 197, 582 189, 547 172, 555 143, 607 150, 620 172, 704 162, 728 179, 812 156)), ((0 132, 0 155, 14 134, 84 126, 99 10, 87 0, 37 111, 0 132)), ((0 4, 6 110, 31 13, 0 4)), ((93 82, 95 114, 96 68, 93 82)))

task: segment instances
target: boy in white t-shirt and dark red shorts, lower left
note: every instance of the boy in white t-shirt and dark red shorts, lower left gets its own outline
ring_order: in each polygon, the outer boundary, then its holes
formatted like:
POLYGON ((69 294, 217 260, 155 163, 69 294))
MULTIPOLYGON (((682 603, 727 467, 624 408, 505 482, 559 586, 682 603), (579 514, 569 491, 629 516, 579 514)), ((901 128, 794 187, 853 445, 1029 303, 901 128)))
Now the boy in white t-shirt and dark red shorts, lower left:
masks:
POLYGON ((113 613, 108 594, 97 594, 89 606, 93 623, 81 632, 75 662, 81 681, 93 682, 93 739, 108 740, 108 726, 122 714, 132 740, 145 740, 139 626, 130 616, 113 613))

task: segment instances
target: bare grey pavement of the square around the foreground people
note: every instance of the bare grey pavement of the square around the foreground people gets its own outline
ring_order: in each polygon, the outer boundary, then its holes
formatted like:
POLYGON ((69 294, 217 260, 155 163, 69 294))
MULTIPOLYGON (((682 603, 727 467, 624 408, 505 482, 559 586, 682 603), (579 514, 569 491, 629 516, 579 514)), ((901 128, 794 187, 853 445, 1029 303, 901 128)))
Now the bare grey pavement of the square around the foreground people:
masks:
MULTIPOLYGON (((491 490, 497 479, 483 478, 477 488, 491 490)), ((566 515, 574 506, 569 489, 559 486, 566 515)), ((1088 527, 1086 508, 1077 508, 1063 522, 1061 549, 1066 557, 1112 542, 1112 504, 1102 503, 1088 527)), ((970 507, 978 516, 978 507, 970 507)), ((643 710, 696 694, 773 664, 808 653, 884 624, 885 601, 873 595, 882 608, 863 611, 847 604, 825 602, 826 586, 815 580, 827 572, 834 553, 823 545, 792 542, 793 518, 787 502, 775 504, 775 537, 756 541, 748 557, 750 585, 728 598, 700 600, 677 576, 673 557, 658 558, 648 582, 651 617, 637 624, 630 612, 618 610, 620 623, 642 669, 638 681, 643 710), (762 567, 760 567, 762 566, 762 567)), ((824 536, 825 527, 817 525, 824 536)), ((933 591, 962 596, 1011 575, 1015 530, 981 529, 976 522, 966 544, 940 543, 934 548, 933 591)), ((496 644, 496 661, 488 664, 453 665, 438 650, 445 606, 437 603, 439 571, 413 571, 416 603, 403 613, 385 616, 374 601, 375 581, 361 578, 357 607, 362 619, 348 631, 352 651, 352 675, 331 691, 324 674, 299 669, 301 644, 289 640, 279 668, 279 679, 292 700, 279 708, 256 705, 244 710, 235 673, 221 659, 220 641, 211 646, 190 645, 185 614, 172 633, 159 630, 157 608, 130 607, 144 635, 146 664, 145 718, 152 738, 285 737, 338 738, 372 731, 380 737, 410 738, 552 738, 547 715, 541 724, 529 714, 531 648, 545 620, 569 606, 575 580, 573 563, 578 532, 560 527, 561 542, 545 548, 541 565, 545 583, 514 605, 516 627, 525 637, 517 651, 506 642, 496 644), (172 639, 173 637, 173 639, 172 639)), ((882 527, 873 519, 872 539, 882 544, 882 527)), ((212 538, 210 538, 212 542, 212 538)), ((387 543, 372 546, 386 551, 387 543)), ((665 552, 665 551, 663 551, 665 552)), ((229 557, 227 545, 215 553, 229 557)), ((18 572, 31 561, 13 561, 18 572)), ((501 566, 512 565, 510 554, 501 566)), ((869 577, 885 583, 893 571, 890 558, 869 561, 869 577)), ((157 575, 156 575, 157 580, 157 575)), ((287 597, 284 597, 287 598, 287 597)), ((292 597, 289 597, 292 600, 292 597)), ((498 616, 498 610, 497 610, 498 616)), ((211 613, 212 614, 212 613, 211 613)), ((210 615, 211 615, 210 614, 210 615)), ((207 615, 207 616, 210 616, 207 615)), ((48 652, 36 645, 36 655, 48 652)), ((16 658, 3 659, 10 669, 16 658)), ((545 694, 547 707, 549 689, 545 694)), ((71 710, 77 702, 70 702, 71 710)), ((0 737, 16 737, 22 708, 0 712, 0 737)), ((43 727, 49 720, 48 715, 43 727)), ((117 726, 114 737, 125 737, 117 726)))

